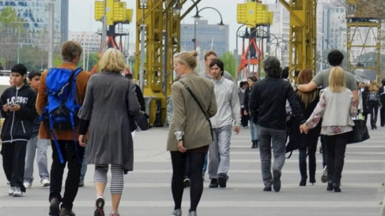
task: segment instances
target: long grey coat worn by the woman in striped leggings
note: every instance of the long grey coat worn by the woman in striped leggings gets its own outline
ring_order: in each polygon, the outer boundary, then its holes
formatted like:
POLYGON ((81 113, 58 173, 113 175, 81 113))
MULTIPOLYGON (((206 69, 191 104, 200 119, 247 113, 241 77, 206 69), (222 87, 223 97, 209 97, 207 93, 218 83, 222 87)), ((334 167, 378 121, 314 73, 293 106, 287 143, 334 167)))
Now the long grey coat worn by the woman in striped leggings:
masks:
POLYGON ((100 72, 87 84, 79 118, 89 120, 87 164, 121 165, 133 170, 134 146, 129 115, 135 116, 140 105, 135 84, 118 73, 100 72))

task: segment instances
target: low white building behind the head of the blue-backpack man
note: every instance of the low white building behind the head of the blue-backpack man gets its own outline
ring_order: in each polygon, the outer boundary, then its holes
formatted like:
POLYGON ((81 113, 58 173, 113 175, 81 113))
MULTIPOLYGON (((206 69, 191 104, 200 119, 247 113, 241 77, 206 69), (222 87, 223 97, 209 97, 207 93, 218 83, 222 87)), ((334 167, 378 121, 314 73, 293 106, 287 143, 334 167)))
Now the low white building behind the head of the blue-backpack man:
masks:
POLYGON ((68 34, 68 40, 79 42, 85 50, 99 52, 102 37, 95 32, 72 32, 68 34))

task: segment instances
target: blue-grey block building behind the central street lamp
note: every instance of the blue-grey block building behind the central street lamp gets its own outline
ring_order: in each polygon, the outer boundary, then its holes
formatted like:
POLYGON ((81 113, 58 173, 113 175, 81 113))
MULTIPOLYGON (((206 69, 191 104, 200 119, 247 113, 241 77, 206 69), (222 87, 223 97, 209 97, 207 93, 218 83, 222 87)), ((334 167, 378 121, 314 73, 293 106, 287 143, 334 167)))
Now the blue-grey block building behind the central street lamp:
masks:
POLYGON ((229 26, 225 25, 221 30, 216 24, 208 24, 207 20, 199 20, 196 28, 194 24, 181 24, 181 50, 194 50, 195 31, 196 46, 200 50, 214 50, 218 56, 229 51, 229 26))

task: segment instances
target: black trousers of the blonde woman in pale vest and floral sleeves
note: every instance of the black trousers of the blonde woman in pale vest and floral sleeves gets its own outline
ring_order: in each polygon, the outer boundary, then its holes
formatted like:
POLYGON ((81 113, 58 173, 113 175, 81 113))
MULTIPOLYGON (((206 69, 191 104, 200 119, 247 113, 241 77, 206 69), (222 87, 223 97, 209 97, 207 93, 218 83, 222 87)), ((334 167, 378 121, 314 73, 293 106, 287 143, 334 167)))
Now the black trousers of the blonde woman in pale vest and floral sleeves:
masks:
POLYGON ((341 173, 345 162, 346 143, 349 133, 325 136, 328 164, 328 179, 331 183, 341 183, 341 173))

